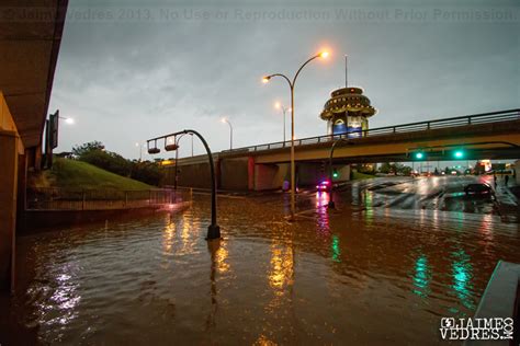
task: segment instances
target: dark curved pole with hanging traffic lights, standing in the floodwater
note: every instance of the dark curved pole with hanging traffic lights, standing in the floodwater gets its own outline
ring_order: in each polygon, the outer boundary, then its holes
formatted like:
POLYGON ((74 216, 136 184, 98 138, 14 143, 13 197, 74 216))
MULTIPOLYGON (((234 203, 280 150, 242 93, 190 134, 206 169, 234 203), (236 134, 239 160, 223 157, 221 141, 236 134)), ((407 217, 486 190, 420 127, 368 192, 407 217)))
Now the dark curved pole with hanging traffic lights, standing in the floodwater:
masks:
POLYGON ((202 135, 199 134, 195 130, 184 129, 182 131, 173 132, 173 134, 170 134, 170 135, 165 135, 165 136, 151 138, 151 139, 147 140, 148 153, 154 154, 154 153, 159 153, 160 152, 160 149, 157 148, 157 141, 161 140, 161 139, 165 140, 165 150, 166 151, 178 150, 179 146, 177 145, 178 141, 176 140, 176 138, 179 135, 185 135, 185 134, 191 134, 191 135, 195 135, 196 137, 199 137, 199 139, 202 141, 202 143, 204 145, 204 148, 206 149, 206 152, 207 152, 207 159, 210 160, 210 173, 211 173, 211 176, 212 176, 212 223, 207 227, 206 240, 218 239, 218 238, 221 238, 221 227, 218 227, 217 220, 216 220, 217 209, 216 209, 215 165, 214 165, 214 162, 213 162, 212 151, 210 149, 210 146, 207 146, 207 142, 204 139, 204 137, 202 137, 202 135), (173 143, 168 143, 168 138, 171 138, 171 137, 173 137, 173 143), (152 147, 150 147, 150 143, 152 143, 152 147))

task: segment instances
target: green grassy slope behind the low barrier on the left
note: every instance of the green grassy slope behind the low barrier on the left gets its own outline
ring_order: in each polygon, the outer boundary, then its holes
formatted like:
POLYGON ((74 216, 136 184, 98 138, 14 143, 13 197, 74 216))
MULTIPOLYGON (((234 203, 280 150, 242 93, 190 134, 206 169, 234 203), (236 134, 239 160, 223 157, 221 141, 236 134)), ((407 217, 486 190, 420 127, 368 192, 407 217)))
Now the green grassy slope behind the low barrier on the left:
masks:
POLYGON ((82 161, 55 159, 53 169, 30 176, 32 187, 86 189, 150 189, 155 186, 124 177, 82 161))

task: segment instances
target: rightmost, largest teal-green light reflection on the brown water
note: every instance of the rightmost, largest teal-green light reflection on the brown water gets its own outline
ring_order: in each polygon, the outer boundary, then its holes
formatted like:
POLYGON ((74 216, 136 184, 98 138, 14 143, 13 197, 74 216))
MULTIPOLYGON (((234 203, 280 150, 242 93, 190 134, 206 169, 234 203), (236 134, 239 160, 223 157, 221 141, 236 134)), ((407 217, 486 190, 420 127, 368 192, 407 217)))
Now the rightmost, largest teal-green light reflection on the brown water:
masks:
POLYGON ((471 300, 471 289, 473 285, 471 282, 473 267, 470 263, 470 256, 462 250, 453 253, 456 258, 453 261, 452 275, 453 285, 452 288, 455 290, 456 296, 461 299, 464 307, 474 309, 475 305, 471 300))

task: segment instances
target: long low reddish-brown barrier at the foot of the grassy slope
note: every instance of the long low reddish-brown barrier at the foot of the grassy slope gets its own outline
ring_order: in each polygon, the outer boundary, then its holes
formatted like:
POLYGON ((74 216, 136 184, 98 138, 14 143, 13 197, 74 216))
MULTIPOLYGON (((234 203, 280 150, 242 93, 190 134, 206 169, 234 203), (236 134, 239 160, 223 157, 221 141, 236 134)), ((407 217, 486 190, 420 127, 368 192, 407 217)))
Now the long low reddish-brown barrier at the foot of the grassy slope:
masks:
POLYGON ((31 188, 26 193, 27 210, 106 210, 174 205, 191 200, 188 189, 74 189, 31 188))

